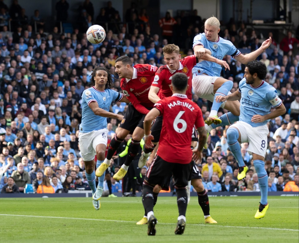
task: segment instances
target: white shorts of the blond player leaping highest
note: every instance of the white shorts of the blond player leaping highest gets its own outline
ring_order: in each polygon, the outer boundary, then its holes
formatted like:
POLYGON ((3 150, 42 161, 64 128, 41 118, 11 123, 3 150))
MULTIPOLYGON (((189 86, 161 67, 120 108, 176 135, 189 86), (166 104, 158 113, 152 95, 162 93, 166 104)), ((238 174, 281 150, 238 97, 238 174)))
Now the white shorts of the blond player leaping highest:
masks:
MULTIPOLYGON (((207 75, 197 75, 192 78, 192 88, 194 93, 202 99, 214 101, 214 82, 219 77, 211 77, 207 75)), ((231 92, 228 92, 231 94, 231 92)), ((226 102, 226 101, 225 101, 226 102)), ((220 106, 224 108, 225 102, 220 106)))

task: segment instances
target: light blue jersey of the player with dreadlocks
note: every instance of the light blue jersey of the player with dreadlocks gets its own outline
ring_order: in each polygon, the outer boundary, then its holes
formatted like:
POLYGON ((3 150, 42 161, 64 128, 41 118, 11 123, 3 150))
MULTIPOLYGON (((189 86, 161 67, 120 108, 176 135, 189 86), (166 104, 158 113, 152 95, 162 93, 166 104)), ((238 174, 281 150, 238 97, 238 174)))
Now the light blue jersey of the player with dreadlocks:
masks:
POLYGON ((97 90, 94 86, 84 90, 82 94, 82 121, 79 127, 80 133, 89 133, 94 130, 107 128, 107 118, 95 115, 89 108, 89 104, 96 101, 99 108, 109 111, 113 100, 120 101, 123 94, 112 89, 97 90))

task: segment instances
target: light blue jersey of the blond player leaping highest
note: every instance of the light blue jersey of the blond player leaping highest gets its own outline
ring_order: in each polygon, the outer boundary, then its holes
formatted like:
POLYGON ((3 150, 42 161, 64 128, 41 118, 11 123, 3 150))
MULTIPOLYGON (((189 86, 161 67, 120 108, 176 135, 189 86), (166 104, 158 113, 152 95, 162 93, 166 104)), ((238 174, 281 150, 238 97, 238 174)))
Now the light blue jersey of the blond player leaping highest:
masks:
MULTIPOLYGON (((211 56, 222 60, 225 55, 230 55, 233 58, 239 56, 241 53, 229 40, 224 40, 218 36, 217 41, 209 41, 206 39, 206 34, 201 33, 196 35, 193 40, 193 48, 196 45, 203 45, 204 48, 211 51, 211 56)), ((221 66, 217 63, 202 61, 197 63, 192 68, 193 77, 197 75, 207 74, 208 76, 219 77, 221 66)))

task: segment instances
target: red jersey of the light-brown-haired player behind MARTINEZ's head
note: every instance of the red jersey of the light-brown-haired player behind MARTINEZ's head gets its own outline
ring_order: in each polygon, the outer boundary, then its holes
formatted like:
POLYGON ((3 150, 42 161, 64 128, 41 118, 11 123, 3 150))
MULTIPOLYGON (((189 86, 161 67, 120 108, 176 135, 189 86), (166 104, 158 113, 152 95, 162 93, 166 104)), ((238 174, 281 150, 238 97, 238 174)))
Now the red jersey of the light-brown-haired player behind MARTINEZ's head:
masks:
POLYGON ((194 55, 187 56, 180 60, 180 67, 178 70, 171 70, 168 65, 160 67, 154 78, 152 86, 160 88, 158 96, 161 100, 166 97, 172 96, 172 91, 170 89, 172 75, 177 72, 185 73, 188 76, 189 89, 186 92, 188 99, 192 99, 192 68, 196 65, 196 57, 194 55))

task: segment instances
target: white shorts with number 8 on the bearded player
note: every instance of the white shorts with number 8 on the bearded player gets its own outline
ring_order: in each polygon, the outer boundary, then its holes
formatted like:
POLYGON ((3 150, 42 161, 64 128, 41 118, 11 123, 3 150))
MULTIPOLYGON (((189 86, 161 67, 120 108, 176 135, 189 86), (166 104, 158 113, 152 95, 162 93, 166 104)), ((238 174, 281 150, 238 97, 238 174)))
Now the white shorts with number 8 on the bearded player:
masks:
POLYGON ((241 133, 241 143, 249 143, 248 153, 258 154, 265 157, 268 144, 268 127, 267 125, 252 127, 250 124, 237 121, 237 123, 232 124, 230 127, 237 128, 241 133))

